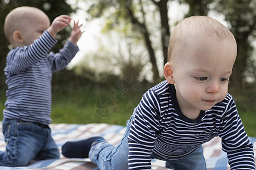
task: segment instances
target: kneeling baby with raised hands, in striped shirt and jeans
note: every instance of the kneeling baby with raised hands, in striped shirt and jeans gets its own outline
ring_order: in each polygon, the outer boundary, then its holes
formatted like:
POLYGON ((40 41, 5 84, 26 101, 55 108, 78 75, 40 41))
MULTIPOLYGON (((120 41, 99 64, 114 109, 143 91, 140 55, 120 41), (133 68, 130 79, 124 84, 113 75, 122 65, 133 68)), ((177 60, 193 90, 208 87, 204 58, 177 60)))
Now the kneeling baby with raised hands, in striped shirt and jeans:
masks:
POLYGON ((71 22, 60 15, 50 25, 43 11, 18 7, 5 19, 6 39, 14 46, 7 54, 6 103, 3 135, 7 144, 0 151, 0 166, 22 166, 31 160, 58 159, 59 149, 51 137, 52 73, 64 69, 79 51, 76 43, 82 32, 74 22, 70 40, 59 53, 49 53, 56 34, 71 22))

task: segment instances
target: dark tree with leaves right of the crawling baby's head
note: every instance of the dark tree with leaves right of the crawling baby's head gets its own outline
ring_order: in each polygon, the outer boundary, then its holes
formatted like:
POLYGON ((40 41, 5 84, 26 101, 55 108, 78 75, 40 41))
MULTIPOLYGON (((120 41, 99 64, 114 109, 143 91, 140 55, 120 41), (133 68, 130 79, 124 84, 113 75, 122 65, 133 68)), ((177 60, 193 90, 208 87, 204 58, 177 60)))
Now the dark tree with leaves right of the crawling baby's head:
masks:
POLYGON ((253 45, 256 37, 256 1, 227 0, 216 1, 215 10, 224 14, 229 29, 237 40, 237 59, 233 67, 230 84, 241 91, 245 87, 245 72, 252 69, 255 76, 255 58, 253 45))

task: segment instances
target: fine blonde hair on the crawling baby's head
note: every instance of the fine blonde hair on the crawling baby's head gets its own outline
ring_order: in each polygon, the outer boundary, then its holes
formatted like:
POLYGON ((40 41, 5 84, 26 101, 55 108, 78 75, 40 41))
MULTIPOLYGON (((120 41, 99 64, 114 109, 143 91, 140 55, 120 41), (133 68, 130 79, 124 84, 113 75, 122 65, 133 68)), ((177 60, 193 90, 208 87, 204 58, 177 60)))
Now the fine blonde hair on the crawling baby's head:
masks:
POLYGON ((191 16, 178 23, 171 33, 168 62, 174 63, 177 53, 185 50, 184 41, 192 37, 214 37, 220 41, 230 39, 236 43, 233 34, 223 24, 208 16, 191 16))

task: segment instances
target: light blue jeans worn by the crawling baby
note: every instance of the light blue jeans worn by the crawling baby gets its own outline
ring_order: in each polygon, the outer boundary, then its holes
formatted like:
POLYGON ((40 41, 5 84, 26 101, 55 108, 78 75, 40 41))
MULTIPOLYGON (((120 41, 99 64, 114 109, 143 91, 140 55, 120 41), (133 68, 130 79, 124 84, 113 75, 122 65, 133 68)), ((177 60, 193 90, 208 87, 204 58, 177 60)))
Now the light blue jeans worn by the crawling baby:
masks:
MULTIPOLYGON (((129 146, 127 142, 127 137, 130 133, 131 122, 134 117, 130 117, 130 120, 126 122, 126 130, 123 135, 122 140, 118 143, 116 147, 110 145, 106 141, 98 142, 93 145, 89 151, 90 160, 98 166, 99 169, 117 169, 126 170, 128 169, 128 154, 129 146)), ((151 158, 159 159, 155 155, 151 155, 151 158)), ((163 159, 162 159, 163 160, 163 159)), ((205 159, 203 156, 203 147, 200 146, 191 155, 187 156, 181 160, 166 160, 166 167, 175 170, 206 170, 205 159)))

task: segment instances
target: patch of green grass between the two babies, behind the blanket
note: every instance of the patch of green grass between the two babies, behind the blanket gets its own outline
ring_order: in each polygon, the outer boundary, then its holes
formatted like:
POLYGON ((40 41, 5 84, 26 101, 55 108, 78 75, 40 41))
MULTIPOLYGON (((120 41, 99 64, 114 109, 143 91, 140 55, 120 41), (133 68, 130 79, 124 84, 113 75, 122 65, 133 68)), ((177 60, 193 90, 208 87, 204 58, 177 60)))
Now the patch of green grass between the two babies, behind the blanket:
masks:
POLYGON ((95 122, 125 125, 126 120, 133 113, 134 107, 139 103, 139 99, 130 96, 129 99, 121 103, 115 99, 108 88, 96 89, 97 87, 84 87, 84 89, 76 88, 76 90, 65 93, 57 90, 53 91, 51 116, 53 123, 89 124, 95 122), (100 101, 105 103, 108 99, 110 107, 113 106, 111 108, 114 109, 113 111, 108 111, 106 107, 101 108, 99 104, 100 101), (106 113, 102 114, 97 109, 103 109, 106 113))

